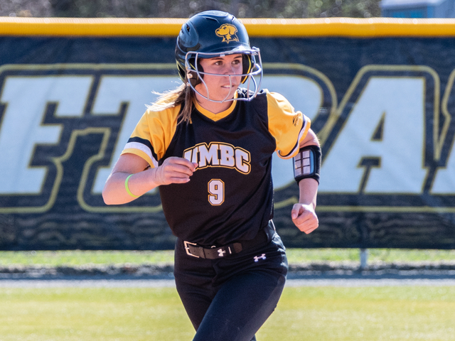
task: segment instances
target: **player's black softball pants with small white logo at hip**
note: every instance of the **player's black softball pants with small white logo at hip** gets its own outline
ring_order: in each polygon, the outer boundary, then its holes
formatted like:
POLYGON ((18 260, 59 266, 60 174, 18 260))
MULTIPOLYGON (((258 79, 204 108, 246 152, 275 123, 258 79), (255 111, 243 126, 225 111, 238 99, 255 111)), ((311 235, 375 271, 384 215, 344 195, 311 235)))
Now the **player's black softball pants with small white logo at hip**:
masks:
POLYGON ((268 244, 223 259, 186 254, 177 240, 174 276, 193 341, 250 341, 277 306, 287 276, 287 257, 275 232, 268 244))

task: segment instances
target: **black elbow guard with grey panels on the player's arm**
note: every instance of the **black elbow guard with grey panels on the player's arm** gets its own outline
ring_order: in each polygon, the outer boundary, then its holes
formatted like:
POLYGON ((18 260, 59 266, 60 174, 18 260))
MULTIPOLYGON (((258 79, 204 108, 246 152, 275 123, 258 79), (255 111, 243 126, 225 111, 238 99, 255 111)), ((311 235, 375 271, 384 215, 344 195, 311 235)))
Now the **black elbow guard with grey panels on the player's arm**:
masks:
POLYGON ((300 148, 292 160, 294 161, 294 178, 299 183, 304 178, 314 178, 319 183, 319 171, 321 169, 321 147, 305 146, 300 148))

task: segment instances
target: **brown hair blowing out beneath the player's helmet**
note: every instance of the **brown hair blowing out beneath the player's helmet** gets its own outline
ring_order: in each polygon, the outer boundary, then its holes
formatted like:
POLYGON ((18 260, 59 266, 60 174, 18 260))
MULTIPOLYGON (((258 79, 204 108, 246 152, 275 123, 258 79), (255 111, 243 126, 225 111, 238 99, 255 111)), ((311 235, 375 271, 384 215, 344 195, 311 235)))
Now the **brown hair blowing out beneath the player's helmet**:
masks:
POLYGON ((182 109, 178 114, 177 124, 181 124, 181 122, 189 124, 191 122, 191 112, 193 111, 193 98, 195 98, 195 94, 189 85, 183 83, 174 90, 163 93, 154 92, 154 94, 159 94, 159 97, 156 102, 147 106, 149 109, 161 111, 171 107, 177 107, 181 104, 182 109))

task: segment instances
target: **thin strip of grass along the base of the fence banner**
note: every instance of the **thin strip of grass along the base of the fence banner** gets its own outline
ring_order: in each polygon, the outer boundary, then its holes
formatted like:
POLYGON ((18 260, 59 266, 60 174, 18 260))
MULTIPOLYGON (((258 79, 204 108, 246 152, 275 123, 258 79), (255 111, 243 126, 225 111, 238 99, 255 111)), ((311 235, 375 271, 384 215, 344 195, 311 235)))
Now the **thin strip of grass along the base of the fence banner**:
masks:
MULTIPOLYGON (((290 264, 359 261, 358 249, 287 249, 290 264)), ((455 261, 455 250, 370 249, 368 262, 455 261)), ((172 264, 173 251, 0 251, 0 266, 172 264)))

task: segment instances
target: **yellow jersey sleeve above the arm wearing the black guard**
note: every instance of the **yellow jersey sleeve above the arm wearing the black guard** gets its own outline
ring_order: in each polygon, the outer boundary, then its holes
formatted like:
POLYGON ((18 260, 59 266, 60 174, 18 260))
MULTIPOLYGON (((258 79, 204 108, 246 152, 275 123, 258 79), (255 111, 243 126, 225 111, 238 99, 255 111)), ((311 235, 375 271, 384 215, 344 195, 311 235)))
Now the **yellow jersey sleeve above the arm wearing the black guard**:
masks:
POLYGON ((277 143, 280 158, 292 158, 299 151, 299 143, 305 139, 311 120, 294 107, 281 94, 267 92, 269 132, 277 143))

